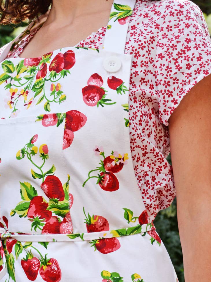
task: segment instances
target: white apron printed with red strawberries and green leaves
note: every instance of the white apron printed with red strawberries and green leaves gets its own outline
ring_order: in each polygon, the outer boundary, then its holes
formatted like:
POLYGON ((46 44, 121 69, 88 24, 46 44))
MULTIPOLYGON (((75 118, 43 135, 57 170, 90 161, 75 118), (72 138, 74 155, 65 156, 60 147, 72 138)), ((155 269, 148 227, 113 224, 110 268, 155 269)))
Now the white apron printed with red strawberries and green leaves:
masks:
POLYGON ((1 282, 177 281, 130 152, 134 4, 113 3, 103 50, 1 54, 1 282))

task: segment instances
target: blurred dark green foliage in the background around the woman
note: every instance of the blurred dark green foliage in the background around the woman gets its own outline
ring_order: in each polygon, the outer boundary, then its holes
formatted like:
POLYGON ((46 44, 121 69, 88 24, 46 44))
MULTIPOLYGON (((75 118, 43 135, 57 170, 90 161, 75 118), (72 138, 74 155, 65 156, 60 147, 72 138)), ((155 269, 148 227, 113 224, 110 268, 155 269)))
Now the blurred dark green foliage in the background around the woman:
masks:
MULTIPOLYGON (((204 13, 210 34, 211 34, 211 0, 193 0, 204 13)), ((21 23, 19 25, 0 25, 0 47, 11 41, 17 36, 27 23, 21 23)), ((171 156, 167 158, 171 164, 171 156)), ((177 202, 176 198, 169 208, 161 210, 154 224, 158 231, 166 249, 169 252, 172 263, 177 272, 179 282, 184 282, 184 270, 182 259, 182 248, 179 240, 179 231, 177 225, 177 202)))

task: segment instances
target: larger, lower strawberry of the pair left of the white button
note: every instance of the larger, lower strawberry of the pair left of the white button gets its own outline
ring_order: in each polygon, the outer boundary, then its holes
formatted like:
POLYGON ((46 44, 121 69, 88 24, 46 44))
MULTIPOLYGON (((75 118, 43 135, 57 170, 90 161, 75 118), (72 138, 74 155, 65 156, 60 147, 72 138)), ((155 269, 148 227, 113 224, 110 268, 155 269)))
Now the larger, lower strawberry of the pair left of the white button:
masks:
POLYGON ((84 103, 90 107, 94 107, 102 99, 105 90, 95 85, 87 85, 82 89, 82 94, 84 103))

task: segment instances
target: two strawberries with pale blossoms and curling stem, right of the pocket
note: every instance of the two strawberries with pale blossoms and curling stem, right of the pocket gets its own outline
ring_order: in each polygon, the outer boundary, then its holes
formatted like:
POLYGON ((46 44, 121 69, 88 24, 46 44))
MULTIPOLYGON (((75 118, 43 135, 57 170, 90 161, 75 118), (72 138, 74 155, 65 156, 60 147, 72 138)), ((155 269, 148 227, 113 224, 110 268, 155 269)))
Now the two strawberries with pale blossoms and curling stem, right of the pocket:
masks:
POLYGON ((102 147, 96 146, 93 150, 95 155, 101 155, 103 160, 100 161, 99 167, 93 169, 88 173, 87 180, 83 183, 83 187, 86 182, 91 178, 97 178, 97 183, 104 191, 116 191, 119 189, 119 181, 114 175, 123 169, 123 166, 127 164, 128 154, 121 155, 117 151, 112 151, 111 155, 105 157, 105 153, 102 147), (99 171, 98 176, 91 176, 91 173, 94 171, 99 171))

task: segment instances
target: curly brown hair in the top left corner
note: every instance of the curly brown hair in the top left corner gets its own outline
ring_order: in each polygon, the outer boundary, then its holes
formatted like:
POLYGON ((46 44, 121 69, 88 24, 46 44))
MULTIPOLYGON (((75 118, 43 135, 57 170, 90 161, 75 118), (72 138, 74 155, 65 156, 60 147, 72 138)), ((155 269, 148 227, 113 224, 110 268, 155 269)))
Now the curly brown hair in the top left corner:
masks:
POLYGON ((45 14, 52 0, 0 0, 1 24, 20 23, 45 14))

